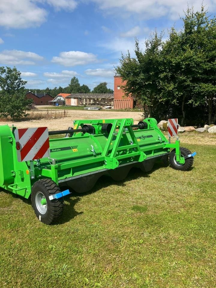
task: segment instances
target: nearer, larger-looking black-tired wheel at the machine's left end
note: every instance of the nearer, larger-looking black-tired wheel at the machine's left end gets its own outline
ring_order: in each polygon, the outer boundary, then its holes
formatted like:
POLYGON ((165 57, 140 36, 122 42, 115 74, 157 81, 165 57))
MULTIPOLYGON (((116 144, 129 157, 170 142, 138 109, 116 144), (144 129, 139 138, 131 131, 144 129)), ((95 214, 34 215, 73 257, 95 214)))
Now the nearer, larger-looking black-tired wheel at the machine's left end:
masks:
POLYGON ((31 200, 32 207, 38 219, 44 224, 52 224, 56 222, 63 210, 63 198, 49 200, 49 196, 61 192, 58 185, 51 179, 41 179, 32 186, 31 200), (46 205, 40 204, 40 199, 46 198, 46 205))

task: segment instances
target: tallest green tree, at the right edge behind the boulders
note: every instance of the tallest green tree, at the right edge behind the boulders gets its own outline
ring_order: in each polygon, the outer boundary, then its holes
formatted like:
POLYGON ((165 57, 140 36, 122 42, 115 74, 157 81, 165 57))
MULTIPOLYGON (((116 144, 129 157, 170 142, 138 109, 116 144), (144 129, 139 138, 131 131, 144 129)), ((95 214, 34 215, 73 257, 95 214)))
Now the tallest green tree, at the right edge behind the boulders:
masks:
POLYGON ((215 18, 187 8, 183 29, 171 29, 163 46, 161 65, 162 94, 180 105, 182 122, 186 122, 188 104, 208 106, 208 122, 215 122, 216 25, 215 18))

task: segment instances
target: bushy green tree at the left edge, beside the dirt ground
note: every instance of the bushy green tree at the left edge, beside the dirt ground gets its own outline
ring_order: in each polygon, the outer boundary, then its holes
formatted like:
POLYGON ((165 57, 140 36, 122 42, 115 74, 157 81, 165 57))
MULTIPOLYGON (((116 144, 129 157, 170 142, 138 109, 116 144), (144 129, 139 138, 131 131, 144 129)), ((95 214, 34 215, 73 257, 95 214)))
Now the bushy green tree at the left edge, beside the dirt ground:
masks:
POLYGON ((0 67, 0 116, 12 118, 26 116, 32 100, 26 99, 27 82, 21 79, 16 67, 0 67))

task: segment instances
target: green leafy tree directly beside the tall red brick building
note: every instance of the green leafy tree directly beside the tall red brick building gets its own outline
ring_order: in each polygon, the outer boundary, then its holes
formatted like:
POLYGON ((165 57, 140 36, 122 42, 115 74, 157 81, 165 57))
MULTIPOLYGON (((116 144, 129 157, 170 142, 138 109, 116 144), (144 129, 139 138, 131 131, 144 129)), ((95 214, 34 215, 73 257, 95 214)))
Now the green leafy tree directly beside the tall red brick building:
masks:
POLYGON ((116 67, 116 72, 125 81, 122 87, 125 96, 133 95, 143 107, 147 105, 146 114, 150 117, 155 115, 155 110, 163 101, 160 85, 162 36, 155 32, 146 39, 144 51, 135 39, 136 58, 131 58, 128 52, 126 56, 122 55, 120 65, 116 67))

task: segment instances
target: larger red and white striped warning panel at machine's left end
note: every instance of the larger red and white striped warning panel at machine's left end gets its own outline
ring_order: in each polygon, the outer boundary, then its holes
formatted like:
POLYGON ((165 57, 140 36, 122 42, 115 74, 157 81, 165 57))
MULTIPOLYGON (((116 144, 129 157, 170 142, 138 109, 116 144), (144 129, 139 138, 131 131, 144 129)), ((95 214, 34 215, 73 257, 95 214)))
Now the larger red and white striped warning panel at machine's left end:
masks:
POLYGON ((47 127, 16 129, 14 134, 19 162, 48 157, 49 134, 47 127))

